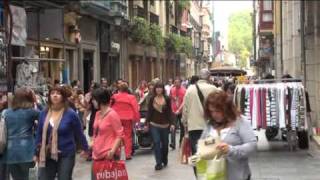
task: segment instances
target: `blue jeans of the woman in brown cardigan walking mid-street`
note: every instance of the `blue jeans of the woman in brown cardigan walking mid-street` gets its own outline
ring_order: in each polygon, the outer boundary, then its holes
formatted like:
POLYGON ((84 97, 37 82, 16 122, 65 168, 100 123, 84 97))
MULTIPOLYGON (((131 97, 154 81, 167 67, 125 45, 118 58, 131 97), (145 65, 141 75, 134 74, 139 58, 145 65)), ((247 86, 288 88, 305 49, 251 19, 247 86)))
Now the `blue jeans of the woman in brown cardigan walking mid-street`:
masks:
POLYGON ((159 128, 151 125, 151 135, 154 143, 154 155, 157 165, 168 163, 169 128, 159 128))

